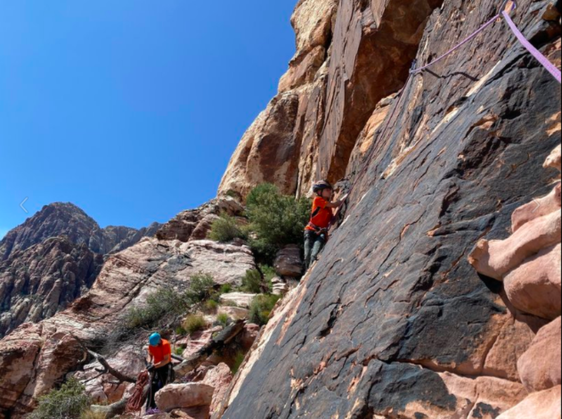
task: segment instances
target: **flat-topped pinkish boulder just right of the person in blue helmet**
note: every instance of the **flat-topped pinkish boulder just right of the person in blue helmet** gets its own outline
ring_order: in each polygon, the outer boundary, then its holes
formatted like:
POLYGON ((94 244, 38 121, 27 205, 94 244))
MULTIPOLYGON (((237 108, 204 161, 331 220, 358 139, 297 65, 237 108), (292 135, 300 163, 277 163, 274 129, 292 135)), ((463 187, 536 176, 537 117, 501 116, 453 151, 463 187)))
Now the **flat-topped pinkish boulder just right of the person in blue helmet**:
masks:
POLYGON ((156 406, 160 411, 175 408, 211 406, 214 387, 202 382, 187 384, 169 384, 155 394, 156 406))

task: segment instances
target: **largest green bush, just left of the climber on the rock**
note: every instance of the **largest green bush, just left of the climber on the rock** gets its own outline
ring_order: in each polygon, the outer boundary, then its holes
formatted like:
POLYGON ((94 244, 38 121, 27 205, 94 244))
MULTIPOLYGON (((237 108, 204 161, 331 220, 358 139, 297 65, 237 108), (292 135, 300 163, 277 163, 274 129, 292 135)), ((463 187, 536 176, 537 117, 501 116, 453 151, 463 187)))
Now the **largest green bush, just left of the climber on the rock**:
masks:
POLYGON ((250 245, 266 262, 284 245, 301 243, 303 229, 310 219, 311 201, 282 195, 277 186, 262 183, 246 199, 249 228, 255 233, 250 245))

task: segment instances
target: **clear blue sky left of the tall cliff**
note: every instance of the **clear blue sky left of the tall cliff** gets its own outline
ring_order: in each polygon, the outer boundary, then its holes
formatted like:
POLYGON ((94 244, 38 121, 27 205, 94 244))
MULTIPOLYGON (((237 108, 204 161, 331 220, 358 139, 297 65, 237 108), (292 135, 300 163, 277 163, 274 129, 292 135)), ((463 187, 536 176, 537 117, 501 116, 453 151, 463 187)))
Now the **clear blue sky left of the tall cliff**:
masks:
POLYGON ((140 227, 213 198, 294 53, 295 4, 1 1, 0 237, 55 201, 140 227))

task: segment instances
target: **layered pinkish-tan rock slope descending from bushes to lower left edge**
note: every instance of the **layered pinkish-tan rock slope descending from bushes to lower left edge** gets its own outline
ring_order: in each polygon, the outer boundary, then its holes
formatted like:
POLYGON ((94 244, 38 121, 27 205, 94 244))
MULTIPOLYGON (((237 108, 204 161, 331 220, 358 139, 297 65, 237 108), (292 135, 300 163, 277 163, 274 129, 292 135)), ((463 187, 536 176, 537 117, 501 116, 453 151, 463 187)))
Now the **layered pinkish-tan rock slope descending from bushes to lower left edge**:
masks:
POLYGON ((39 395, 79 366, 84 352, 73 336, 100 347, 126 311, 162 285, 185 287, 201 272, 217 283, 237 284, 255 268, 247 247, 207 240, 144 238, 110 255, 89 292, 68 309, 37 324, 25 323, 0 340, 0 418, 27 413, 39 395))

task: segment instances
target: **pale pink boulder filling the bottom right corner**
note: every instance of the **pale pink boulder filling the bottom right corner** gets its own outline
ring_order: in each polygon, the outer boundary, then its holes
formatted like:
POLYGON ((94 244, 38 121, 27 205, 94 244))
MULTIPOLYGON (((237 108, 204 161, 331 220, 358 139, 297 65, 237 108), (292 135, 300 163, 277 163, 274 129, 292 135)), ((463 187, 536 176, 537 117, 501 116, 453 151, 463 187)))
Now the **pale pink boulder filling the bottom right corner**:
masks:
POLYGON ((532 393, 520 404, 502 413, 497 419, 560 419, 561 386, 532 393))

